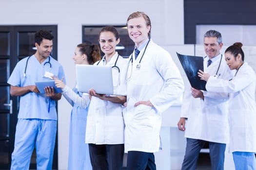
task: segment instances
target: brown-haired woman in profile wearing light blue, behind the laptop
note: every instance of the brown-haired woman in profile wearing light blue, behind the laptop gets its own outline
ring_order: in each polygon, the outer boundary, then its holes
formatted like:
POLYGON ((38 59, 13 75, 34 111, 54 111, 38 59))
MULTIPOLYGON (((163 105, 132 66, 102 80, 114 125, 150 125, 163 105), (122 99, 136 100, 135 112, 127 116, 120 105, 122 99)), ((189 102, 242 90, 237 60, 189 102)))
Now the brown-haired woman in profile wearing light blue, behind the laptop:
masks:
MULTIPOLYGON (((73 59, 75 64, 92 65, 100 60, 99 47, 88 43, 79 44, 73 59)), ((73 106, 70 117, 68 170, 92 170, 88 144, 84 141, 89 95, 78 92, 76 87, 72 90, 59 79, 55 79, 55 84, 62 89, 62 95, 73 106)))

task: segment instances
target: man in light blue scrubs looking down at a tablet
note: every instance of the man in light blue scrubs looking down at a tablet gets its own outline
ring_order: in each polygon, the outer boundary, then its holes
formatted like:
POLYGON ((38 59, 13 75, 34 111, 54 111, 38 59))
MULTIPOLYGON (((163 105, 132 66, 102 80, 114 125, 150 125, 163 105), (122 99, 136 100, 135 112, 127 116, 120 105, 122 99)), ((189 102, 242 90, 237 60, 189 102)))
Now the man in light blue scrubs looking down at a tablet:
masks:
POLYGON ((58 76, 65 82, 62 66, 50 56, 53 38, 45 30, 35 33, 36 53, 20 60, 7 82, 11 96, 20 97, 11 170, 29 170, 34 148, 37 170, 52 170, 57 132, 55 101, 60 100, 61 93, 50 86, 44 88, 45 94, 39 93, 35 81, 58 76))

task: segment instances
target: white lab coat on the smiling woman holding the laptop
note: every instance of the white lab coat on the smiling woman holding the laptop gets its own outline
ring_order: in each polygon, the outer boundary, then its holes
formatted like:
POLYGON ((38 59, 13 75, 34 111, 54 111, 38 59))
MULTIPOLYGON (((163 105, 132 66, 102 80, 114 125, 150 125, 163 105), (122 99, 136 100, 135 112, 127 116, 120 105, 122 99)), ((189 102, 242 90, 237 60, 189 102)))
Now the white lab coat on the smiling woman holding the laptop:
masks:
MULTIPOLYGON (((106 65, 114 66, 117 57, 118 53, 116 52, 106 65)), ((116 66, 120 69, 120 84, 114 89, 114 94, 126 94, 124 72, 127 62, 119 56, 116 66)), ((98 65, 103 66, 103 61, 101 60, 98 65)), ((113 73, 117 72, 114 71, 113 73)), ((118 78, 118 75, 113 75, 113 84, 117 82, 117 80, 114 80, 115 78, 118 78)), ((88 110, 85 143, 98 145, 124 143, 124 121, 121 103, 103 101, 95 96, 92 97, 88 110)))

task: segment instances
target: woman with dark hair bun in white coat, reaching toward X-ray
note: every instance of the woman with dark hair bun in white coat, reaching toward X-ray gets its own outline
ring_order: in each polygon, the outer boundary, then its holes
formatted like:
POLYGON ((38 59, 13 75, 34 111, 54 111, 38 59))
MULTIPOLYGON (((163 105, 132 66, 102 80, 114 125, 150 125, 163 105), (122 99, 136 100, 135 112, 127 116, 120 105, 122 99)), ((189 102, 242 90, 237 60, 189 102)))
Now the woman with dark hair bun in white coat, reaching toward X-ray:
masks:
POLYGON ((228 81, 199 70, 198 76, 207 81, 211 92, 230 93, 230 148, 236 170, 256 170, 256 74, 244 63, 242 43, 235 43, 225 51, 226 63, 235 77, 228 81))

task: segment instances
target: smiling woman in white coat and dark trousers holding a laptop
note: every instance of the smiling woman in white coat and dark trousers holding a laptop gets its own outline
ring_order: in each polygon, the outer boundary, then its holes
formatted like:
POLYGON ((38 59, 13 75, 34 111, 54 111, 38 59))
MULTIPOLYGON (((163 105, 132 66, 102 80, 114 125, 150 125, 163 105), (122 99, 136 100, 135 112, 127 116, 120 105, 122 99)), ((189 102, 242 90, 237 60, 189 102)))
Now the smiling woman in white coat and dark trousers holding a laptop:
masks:
MULTIPOLYGON (((116 46, 120 41, 118 31, 113 26, 103 27, 98 41, 105 55, 95 65, 111 66, 114 94, 126 95, 126 85, 122 75, 126 70, 127 60, 116 52, 116 46)), ((126 97, 97 94, 94 89, 90 89, 89 94, 92 98, 87 117, 85 142, 89 143, 93 170, 122 170, 124 154, 122 103, 126 101, 126 97)))

